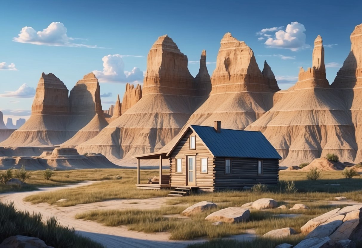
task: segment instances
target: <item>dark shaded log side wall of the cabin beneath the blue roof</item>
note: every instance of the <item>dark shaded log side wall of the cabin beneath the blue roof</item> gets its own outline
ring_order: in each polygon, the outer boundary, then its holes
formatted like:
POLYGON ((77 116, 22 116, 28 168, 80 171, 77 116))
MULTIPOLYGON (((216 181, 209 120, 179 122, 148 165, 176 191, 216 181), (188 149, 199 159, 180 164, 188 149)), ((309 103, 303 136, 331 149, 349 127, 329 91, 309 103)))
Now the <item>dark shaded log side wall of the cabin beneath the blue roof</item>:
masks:
POLYGON ((279 161, 277 159, 261 160, 263 175, 258 176, 258 159, 231 158, 231 174, 225 174, 225 158, 215 158, 215 189, 242 188, 257 183, 278 183, 279 161))

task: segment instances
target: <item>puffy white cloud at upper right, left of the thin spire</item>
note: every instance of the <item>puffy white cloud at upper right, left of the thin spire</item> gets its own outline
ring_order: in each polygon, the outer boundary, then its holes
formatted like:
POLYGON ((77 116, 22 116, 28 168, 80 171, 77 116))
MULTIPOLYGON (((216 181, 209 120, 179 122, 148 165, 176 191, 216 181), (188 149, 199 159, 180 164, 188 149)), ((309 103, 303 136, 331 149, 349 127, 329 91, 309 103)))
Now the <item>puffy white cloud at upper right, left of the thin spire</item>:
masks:
POLYGON ((275 38, 268 38, 264 44, 268 47, 285 48, 291 51, 298 51, 304 48, 310 48, 306 44, 306 28, 302 23, 291 22, 287 25, 285 31, 275 32, 275 38))

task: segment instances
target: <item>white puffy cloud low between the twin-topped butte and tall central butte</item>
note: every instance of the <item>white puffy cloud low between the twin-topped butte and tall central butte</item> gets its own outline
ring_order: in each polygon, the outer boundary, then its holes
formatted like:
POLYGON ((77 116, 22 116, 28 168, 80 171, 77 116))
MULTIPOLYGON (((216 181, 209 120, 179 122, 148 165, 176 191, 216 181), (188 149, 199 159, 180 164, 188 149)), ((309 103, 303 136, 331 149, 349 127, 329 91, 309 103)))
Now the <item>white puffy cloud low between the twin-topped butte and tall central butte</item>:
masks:
MULTIPOLYGON (((130 72, 125 71, 125 63, 122 57, 134 56, 134 55, 120 55, 113 54, 107 55, 102 58, 103 70, 94 70, 93 73, 96 75, 100 82, 142 82, 143 72, 134 67, 130 72)), ((142 56, 134 56, 142 57, 142 56)))

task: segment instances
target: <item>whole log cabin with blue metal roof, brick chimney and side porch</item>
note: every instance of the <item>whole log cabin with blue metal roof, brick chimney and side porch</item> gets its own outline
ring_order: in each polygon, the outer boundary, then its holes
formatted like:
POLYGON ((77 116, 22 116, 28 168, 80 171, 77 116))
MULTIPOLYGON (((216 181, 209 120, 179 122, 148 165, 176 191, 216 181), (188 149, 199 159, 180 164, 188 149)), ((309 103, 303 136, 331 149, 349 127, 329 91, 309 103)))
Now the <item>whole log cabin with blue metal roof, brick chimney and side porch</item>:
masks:
MULTIPOLYGON (((276 184, 279 160, 275 148, 261 132, 189 125, 171 149, 136 156, 137 187, 144 189, 176 188, 215 191, 241 189, 254 184, 276 184), (159 159, 159 181, 140 184, 140 160, 159 159), (162 160, 168 159, 170 172, 162 174, 162 160)), ((170 195, 178 194, 172 191, 170 195)))

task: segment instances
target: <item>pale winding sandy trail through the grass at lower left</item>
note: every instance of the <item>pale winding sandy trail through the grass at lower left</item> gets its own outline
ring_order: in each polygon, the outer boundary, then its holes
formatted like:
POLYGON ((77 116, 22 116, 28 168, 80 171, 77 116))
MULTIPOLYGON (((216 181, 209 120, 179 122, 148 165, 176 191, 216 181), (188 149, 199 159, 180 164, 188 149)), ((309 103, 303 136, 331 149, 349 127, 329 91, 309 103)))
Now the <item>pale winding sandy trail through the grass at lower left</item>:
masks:
MULTIPOLYGON (((170 234, 155 233, 146 234, 143 232, 128 231, 127 227, 107 227, 100 223, 93 221, 76 220, 74 216, 76 213, 94 210, 94 209, 126 209, 126 208, 140 208, 140 209, 156 209, 165 206, 167 197, 157 197, 150 199, 132 199, 132 200, 110 200, 103 202, 95 202, 92 204, 79 204, 71 207, 58 207, 56 205, 49 205, 46 203, 31 204, 24 202, 23 199, 31 194, 37 194, 45 191, 55 191, 64 188, 75 188, 80 186, 89 185, 97 181, 88 181, 75 185, 62 186, 62 187, 45 187, 40 188, 38 191, 27 192, 9 192, 0 194, 1 202, 13 201, 18 210, 27 210, 30 213, 39 212, 46 219, 50 216, 56 216, 59 223, 63 226, 75 227, 79 234, 98 241, 108 248, 112 247, 137 247, 137 248, 178 248, 186 247, 188 244, 197 243, 203 240, 190 240, 190 241, 171 241, 169 240, 170 234)), ((230 238, 238 240, 249 240, 255 235, 237 235, 230 238)))

